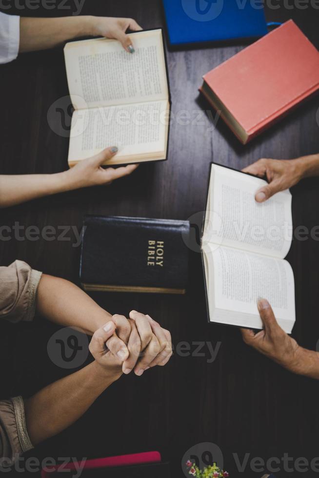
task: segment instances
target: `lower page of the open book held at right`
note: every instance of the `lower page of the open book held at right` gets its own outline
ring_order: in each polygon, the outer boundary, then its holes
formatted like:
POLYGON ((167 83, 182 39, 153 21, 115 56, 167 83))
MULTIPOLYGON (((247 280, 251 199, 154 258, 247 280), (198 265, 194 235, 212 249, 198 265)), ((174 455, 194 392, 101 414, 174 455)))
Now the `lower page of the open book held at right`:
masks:
POLYGON ((241 318, 239 325, 262 328, 257 301, 267 299, 279 324, 291 331, 295 322, 295 283, 289 262, 223 246, 208 247, 208 295, 214 298, 212 307, 235 312, 241 318), (244 315, 256 316, 253 325, 244 315))

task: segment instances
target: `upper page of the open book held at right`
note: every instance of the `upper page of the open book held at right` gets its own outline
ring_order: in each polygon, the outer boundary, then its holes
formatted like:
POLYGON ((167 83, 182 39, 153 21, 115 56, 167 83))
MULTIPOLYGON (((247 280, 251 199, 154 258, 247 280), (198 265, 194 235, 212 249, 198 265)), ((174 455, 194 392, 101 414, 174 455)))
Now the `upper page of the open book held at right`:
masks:
POLYGON ((239 171, 212 165, 203 241, 284 258, 292 241, 291 194, 255 200, 266 184, 239 171))

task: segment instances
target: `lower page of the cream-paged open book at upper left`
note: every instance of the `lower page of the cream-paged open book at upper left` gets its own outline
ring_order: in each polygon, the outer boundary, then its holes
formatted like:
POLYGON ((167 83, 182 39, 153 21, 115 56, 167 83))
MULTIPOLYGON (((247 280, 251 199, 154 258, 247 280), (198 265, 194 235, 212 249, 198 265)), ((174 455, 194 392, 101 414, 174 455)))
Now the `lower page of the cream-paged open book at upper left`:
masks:
POLYGON ((113 163, 134 155, 150 158, 161 153, 161 159, 165 159, 169 107, 164 100, 76 110, 71 123, 69 163, 109 146, 119 148, 113 163))

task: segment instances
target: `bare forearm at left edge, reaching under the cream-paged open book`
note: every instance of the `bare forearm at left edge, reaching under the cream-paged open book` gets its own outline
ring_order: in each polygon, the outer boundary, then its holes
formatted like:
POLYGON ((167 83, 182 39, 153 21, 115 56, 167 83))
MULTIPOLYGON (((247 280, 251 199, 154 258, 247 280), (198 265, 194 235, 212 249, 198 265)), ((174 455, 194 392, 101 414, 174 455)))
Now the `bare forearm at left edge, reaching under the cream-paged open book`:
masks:
POLYGON ((56 174, 0 175, 0 208, 76 187, 71 171, 56 174))

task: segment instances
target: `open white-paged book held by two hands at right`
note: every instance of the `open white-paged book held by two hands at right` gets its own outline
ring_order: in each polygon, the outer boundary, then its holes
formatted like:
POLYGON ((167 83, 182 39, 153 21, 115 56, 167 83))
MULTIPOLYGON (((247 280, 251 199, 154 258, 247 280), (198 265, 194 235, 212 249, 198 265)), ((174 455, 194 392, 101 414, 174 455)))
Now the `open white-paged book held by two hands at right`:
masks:
POLYGON ((284 260, 292 241, 291 194, 255 201, 266 181, 212 164, 202 257, 209 320, 261 329, 257 301, 267 299, 282 329, 295 322, 295 283, 284 260))

